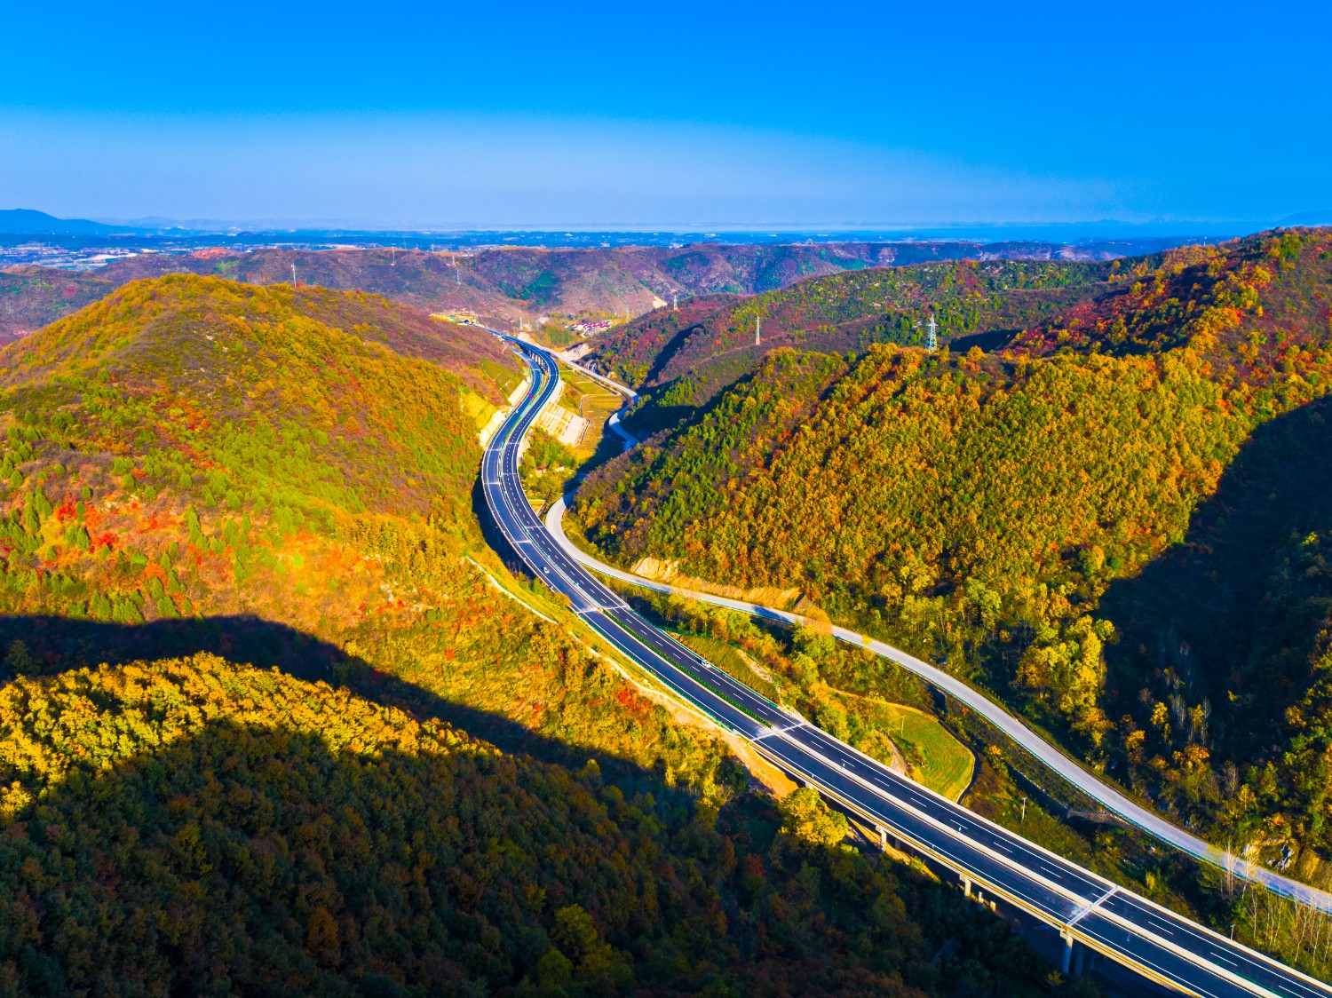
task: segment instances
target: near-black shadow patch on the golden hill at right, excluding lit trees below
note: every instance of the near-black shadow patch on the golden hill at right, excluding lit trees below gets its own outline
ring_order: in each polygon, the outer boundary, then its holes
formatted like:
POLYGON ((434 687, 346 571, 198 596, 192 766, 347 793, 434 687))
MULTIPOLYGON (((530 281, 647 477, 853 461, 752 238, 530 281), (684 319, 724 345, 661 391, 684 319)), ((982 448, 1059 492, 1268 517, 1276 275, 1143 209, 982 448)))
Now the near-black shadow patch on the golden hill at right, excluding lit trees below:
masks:
POLYGON ((1232 758, 1281 741, 1320 620, 1317 598, 1295 598, 1305 584, 1291 556, 1332 530, 1329 430, 1332 398, 1260 425, 1184 541, 1111 585, 1100 614, 1122 636, 1107 656, 1116 709, 1134 709, 1144 688, 1167 700, 1173 676, 1188 706, 1211 702, 1212 734, 1232 758))

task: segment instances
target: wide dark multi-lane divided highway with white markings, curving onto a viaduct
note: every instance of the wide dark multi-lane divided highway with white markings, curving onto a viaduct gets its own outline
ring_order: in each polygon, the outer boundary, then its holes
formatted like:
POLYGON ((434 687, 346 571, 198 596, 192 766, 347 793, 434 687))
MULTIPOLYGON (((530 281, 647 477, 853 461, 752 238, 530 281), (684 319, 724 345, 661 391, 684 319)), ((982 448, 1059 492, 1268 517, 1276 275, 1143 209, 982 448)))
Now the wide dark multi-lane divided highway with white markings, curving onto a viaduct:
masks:
MULTIPOLYGON (((482 457, 496 525, 531 573, 658 681, 774 765, 863 822, 955 871, 968 893, 1000 899, 1059 929, 1064 969, 1076 947, 1196 995, 1332 998, 1332 987, 1140 898, 960 805, 890 771, 710 665, 653 628, 579 565, 542 525, 518 478, 522 441, 559 373, 543 350, 505 337, 531 369, 527 394, 482 457)), ((1080 954, 1078 954, 1080 955, 1080 954)))

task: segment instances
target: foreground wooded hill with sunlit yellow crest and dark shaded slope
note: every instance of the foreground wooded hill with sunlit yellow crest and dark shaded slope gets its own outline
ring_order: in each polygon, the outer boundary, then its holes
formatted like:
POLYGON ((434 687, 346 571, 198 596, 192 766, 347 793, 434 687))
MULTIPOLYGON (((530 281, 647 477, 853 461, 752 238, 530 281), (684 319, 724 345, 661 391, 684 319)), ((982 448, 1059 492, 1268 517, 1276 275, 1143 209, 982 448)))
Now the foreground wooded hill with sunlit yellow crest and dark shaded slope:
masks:
POLYGON ((817 798, 630 798, 210 656, 0 688, 0 759, 7 994, 1036 991, 817 798))

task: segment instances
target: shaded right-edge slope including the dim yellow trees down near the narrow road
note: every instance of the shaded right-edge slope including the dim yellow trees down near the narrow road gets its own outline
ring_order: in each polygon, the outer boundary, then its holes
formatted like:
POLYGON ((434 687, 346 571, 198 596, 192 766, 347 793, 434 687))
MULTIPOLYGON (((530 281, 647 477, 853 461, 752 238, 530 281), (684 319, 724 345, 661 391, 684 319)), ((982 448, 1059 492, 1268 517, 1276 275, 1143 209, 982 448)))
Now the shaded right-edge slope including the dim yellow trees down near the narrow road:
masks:
MULTIPOLYGON (((1136 783, 1243 841, 1329 846, 1332 398, 1261 424, 1183 541, 1100 612, 1107 710, 1136 783)), ((1313 857, 1300 855, 1309 875, 1313 857)))

